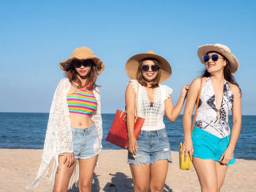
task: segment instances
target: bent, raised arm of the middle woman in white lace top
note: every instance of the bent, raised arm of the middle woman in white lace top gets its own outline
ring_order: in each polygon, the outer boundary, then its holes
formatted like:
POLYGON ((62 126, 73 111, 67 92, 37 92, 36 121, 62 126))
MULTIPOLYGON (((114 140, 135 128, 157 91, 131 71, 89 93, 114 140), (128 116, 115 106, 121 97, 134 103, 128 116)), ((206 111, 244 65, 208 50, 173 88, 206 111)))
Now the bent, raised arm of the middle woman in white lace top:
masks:
POLYGON ((166 117, 171 122, 175 122, 175 120, 179 116, 180 111, 183 108, 183 104, 185 102, 186 94, 187 94, 187 90, 189 89, 189 86, 190 86, 190 84, 187 83, 184 87, 182 87, 180 98, 179 98, 179 100, 178 100, 178 102, 177 102, 175 107, 173 105, 172 97, 171 96, 164 102, 166 117))

